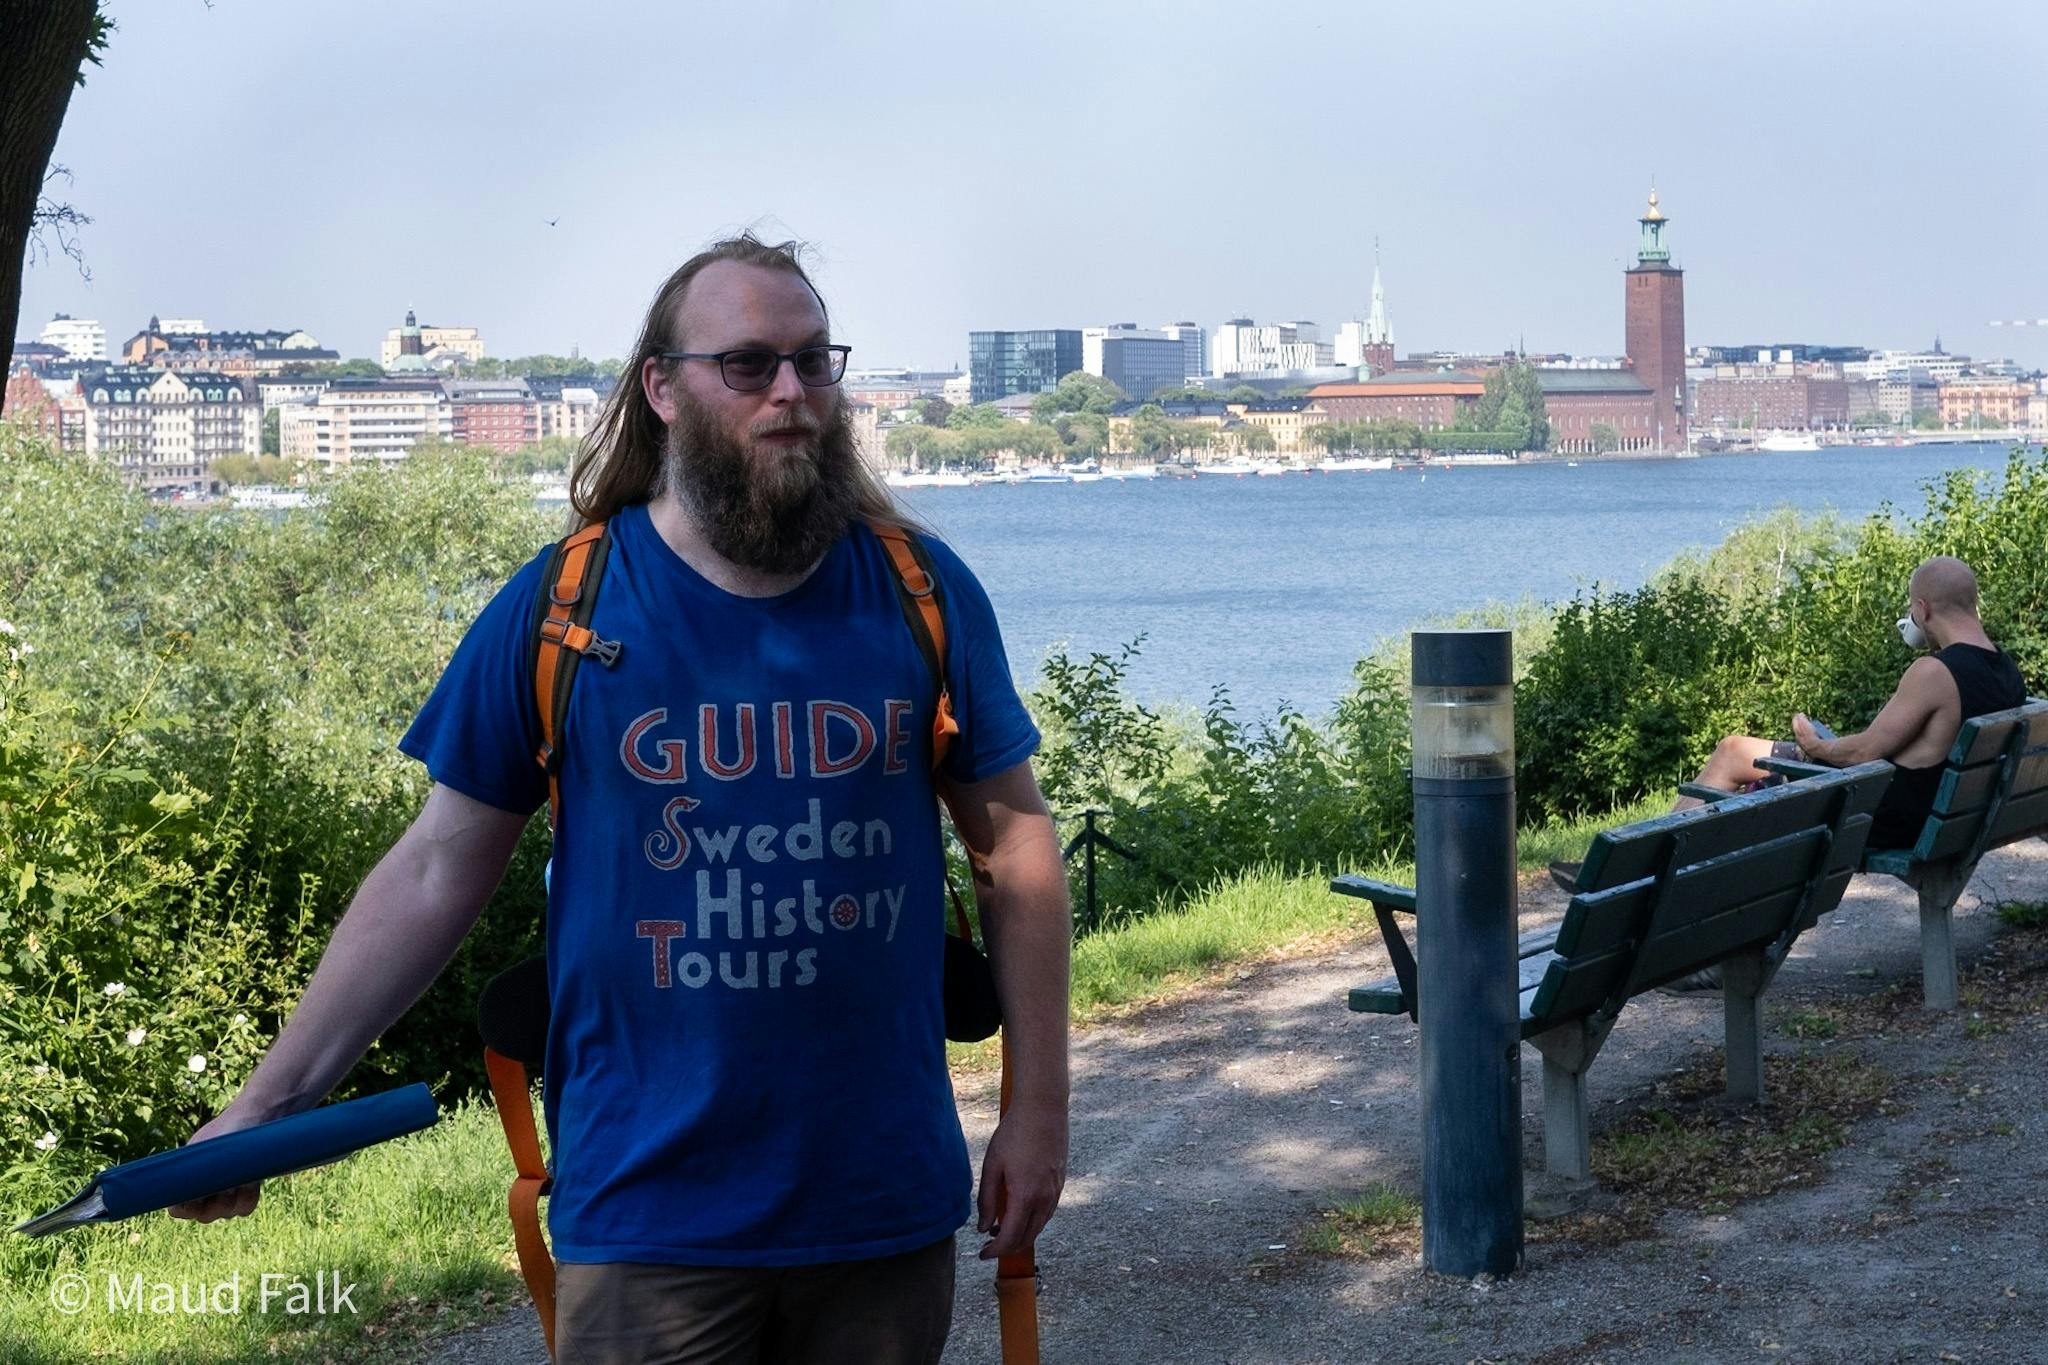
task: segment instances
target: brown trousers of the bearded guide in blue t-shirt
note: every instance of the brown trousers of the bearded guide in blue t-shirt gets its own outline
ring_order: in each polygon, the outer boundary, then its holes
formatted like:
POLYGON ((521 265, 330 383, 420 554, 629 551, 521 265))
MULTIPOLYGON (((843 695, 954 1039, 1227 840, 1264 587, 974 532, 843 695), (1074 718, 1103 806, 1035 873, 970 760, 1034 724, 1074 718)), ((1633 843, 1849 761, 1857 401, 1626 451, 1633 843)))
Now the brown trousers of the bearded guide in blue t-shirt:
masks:
POLYGON ((952 1238, 879 1261, 555 1269, 555 1365, 936 1365, 952 1238))

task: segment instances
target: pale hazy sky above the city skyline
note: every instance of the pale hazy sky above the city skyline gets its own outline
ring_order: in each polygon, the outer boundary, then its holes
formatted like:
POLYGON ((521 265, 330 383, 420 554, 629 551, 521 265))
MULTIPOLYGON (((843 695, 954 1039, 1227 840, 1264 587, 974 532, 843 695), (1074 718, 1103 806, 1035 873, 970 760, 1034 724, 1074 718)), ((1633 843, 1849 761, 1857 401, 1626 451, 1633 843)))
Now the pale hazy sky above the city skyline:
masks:
MULTIPOLYGON (((1364 313, 1616 354, 1655 174, 1692 344, 2048 364, 2048 4, 106 0, 57 143, 90 284, 375 354, 616 356, 721 231, 817 248, 854 364, 975 327, 1364 313), (549 219, 559 219, 549 227, 549 219)), ((61 188, 61 186, 59 186, 61 188)))

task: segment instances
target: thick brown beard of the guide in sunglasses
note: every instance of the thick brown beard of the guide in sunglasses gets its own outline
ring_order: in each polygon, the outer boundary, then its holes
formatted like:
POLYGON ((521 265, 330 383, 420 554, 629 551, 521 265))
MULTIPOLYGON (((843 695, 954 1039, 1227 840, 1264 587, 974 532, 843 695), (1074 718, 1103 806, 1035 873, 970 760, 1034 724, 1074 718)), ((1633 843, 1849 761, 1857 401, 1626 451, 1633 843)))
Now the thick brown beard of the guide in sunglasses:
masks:
POLYGON ((860 508, 860 452, 846 403, 803 442, 760 440, 793 426, 809 426, 809 413, 762 417, 737 438, 684 401, 668 428, 664 485, 676 489, 713 551, 762 573, 809 569, 860 508))

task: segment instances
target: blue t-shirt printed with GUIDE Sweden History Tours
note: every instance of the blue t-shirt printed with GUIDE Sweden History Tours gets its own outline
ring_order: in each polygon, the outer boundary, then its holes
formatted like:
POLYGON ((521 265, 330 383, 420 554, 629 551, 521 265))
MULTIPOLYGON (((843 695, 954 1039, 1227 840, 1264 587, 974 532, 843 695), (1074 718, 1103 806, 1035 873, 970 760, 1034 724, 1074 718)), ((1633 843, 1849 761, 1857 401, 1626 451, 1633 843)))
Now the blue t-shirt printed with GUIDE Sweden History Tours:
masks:
MULTIPOLYGON (((1038 745, 995 614, 926 538, 979 782, 1038 745)), ((502 810, 547 800, 528 641, 547 555, 471 626, 399 749, 502 810)), ((561 1261, 813 1265, 967 1222, 946 1076, 936 686, 866 526, 739 598, 633 505, 563 724, 545 1111, 561 1261)))

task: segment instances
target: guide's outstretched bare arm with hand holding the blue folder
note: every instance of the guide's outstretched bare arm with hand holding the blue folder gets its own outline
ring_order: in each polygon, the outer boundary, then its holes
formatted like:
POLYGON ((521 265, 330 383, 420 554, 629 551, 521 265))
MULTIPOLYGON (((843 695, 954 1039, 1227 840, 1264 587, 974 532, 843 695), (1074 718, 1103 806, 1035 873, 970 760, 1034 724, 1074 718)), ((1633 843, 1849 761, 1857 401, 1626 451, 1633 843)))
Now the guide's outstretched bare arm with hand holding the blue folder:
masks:
MULTIPOLYGON (((362 880, 276 1042, 193 1142, 317 1105, 440 976, 498 888, 526 819, 434 786, 362 880)), ((170 1212, 199 1222, 248 1214, 256 1189, 244 1185, 170 1212)))

